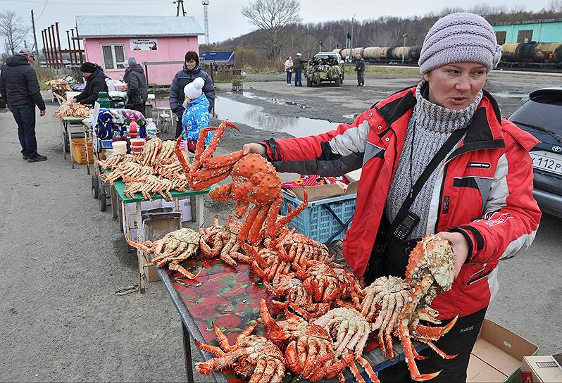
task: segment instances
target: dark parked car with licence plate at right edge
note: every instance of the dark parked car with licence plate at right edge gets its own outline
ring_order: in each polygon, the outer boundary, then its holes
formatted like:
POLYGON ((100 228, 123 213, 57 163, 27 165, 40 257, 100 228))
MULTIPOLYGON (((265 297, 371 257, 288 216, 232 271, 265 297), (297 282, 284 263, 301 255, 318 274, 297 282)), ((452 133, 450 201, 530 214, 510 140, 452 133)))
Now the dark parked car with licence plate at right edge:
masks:
POLYGON ((532 194, 544 213, 562 218, 562 87, 531 92, 509 120, 539 139, 530 152, 532 194))

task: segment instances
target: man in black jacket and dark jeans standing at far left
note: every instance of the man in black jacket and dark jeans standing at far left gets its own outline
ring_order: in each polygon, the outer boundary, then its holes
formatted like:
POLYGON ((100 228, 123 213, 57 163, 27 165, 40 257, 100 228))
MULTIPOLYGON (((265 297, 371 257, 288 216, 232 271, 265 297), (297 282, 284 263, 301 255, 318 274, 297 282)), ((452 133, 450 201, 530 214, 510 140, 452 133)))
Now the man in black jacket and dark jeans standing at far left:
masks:
POLYGON ((35 138, 35 106, 39 115, 45 115, 45 101, 41 96, 37 73, 31 67, 33 54, 29 49, 22 49, 11 56, 2 66, 0 73, 0 96, 12 112, 18 124, 21 153, 27 162, 45 161, 46 156, 37 153, 35 138))

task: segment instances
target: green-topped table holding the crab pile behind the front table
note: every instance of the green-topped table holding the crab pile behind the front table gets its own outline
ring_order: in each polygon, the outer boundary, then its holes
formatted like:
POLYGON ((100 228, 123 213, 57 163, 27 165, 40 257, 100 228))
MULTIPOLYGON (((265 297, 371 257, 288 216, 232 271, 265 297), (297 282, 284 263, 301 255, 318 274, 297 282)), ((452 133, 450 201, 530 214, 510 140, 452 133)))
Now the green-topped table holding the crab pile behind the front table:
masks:
MULTIPOLYGON (((104 170, 104 172, 109 172, 109 170, 104 170)), ((140 227, 141 227, 141 222, 139 222, 139 217, 141 217, 141 203, 146 201, 146 199, 144 199, 144 196, 142 196, 141 193, 135 193, 135 198, 131 198, 130 196, 125 196, 125 182, 123 182, 123 180, 118 180, 113 182, 113 188, 111 189, 111 192, 113 194, 113 192, 115 192, 115 196, 111 196, 112 199, 112 203, 113 201, 117 201, 117 203, 121 203, 121 206, 123 206, 123 210, 125 209, 125 206, 127 203, 135 203, 136 206, 136 215, 135 215, 135 219, 133 222, 129 222, 128 219, 128 212, 125 212, 124 215, 124 225, 125 225, 125 237, 127 239, 132 240, 131 238, 131 230, 135 229, 137 231, 137 235, 140 233, 140 227), (131 225, 132 223, 132 225, 131 225)), ((174 203, 175 203, 175 211, 180 211, 180 199, 182 197, 190 197, 191 199, 191 206, 192 206, 192 212, 195 212, 195 217, 196 217, 196 222, 197 225, 203 225, 205 220, 204 220, 204 194, 208 194, 208 192, 212 189, 212 187, 208 187, 207 189, 201 190, 201 191, 194 191, 194 190, 187 190, 184 192, 178 192, 177 190, 170 190, 170 194, 172 194, 174 203), (194 208, 195 206, 195 208, 194 208)), ((152 199, 163 199, 163 196, 161 196, 160 194, 150 194, 152 199)), ((194 217, 194 218, 195 218, 194 217)), ((147 267, 148 265, 146 265, 145 262, 145 258, 144 258, 144 252, 140 249, 137 249, 137 258, 138 258, 138 262, 139 262, 139 291, 141 294, 144 294, 144 283, 146 282, 144 280, 144 268, 147 267)))

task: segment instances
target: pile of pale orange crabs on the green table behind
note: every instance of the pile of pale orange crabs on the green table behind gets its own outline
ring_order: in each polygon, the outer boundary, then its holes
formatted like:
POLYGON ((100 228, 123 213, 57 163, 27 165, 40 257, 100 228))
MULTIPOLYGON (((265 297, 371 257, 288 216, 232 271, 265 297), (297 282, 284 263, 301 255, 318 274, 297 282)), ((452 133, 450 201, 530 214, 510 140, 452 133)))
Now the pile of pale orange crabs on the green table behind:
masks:
MULTIPOLYGON (((125 195, 135 198, 141 193, 144 199, 152 201, 154 194, 172 200, 171 190, 187 189, 187 177, 175 153, 174 141, 154 138, 146 142, 140 155, 113 153, 104 161, 97 161, 101 168, 111 170, 100 175, 101 180, 113 184, 116 180, 125 182, 125 195)), ((181 153, 181 156, 185 156, 181 153)))

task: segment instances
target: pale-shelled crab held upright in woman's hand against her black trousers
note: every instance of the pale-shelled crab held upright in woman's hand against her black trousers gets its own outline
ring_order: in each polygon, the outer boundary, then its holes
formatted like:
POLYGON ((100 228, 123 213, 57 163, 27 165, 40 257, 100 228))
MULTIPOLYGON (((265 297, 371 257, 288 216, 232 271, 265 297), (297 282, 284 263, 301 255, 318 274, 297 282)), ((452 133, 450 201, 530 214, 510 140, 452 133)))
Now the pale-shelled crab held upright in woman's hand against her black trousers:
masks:
POLYGON ((423 381, 433 379, 440 371, 430 374, 420 374, 416 365, 416 353, 411 338, 422 341, 430 346, 439 356, 445 359, 454 358, 437 349, 432 343, 447 334, 456 323, 456 318, 444 327, 430 327, 420 325, 420 319, 437 322, 435 310, 427 310, 431 302, 440 291, 451 289, 455 277, 454 253, 447 239, 432 234, 426 234, 410 253, 410 260, 406 267, 406 282, 412 293, 406 300, 399 317, 399 336, 404 346, 404 356, 414 380, 423 381), (435 316, 434 316, 435 315, 435 316), (430 318, 425 318, 425 317, 430 318))

